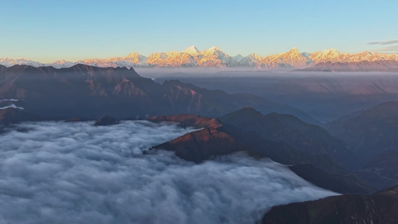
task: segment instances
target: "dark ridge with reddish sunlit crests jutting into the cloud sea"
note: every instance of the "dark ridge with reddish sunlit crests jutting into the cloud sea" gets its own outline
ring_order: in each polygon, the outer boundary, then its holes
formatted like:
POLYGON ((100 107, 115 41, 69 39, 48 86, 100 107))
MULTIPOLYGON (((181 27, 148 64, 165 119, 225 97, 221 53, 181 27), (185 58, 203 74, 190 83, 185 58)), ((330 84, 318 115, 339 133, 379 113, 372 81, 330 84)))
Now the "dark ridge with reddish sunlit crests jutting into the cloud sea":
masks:
POLYGON ((175 151, 176 155, 182 159, 195 163, 200 163, 217 155, 245 151, 253 157, 268 157, 285 165, 306 165, 297 169, 292 166, 291 169, 297 172, 299 176, 306 177, 308 181, 319 186, 322 185, 326 189, 340 193, 373 192, 369 185, 343 169, 326 153, 316 155, 300 151, 281 140, 267 140, 254 131, 244 132, 236 126, 223 123, 220 121, 221 119, 182 114, 181 116, 158 116, 149 118, 149 120, 180 122, 181 126, 202 128, 151 147, 150 150, 165 149, 175 151), (311 170, 314 170, 314 168, 318 172, 315 173, 316 175, 312 175, 314 171, 311 170), (311 175, 312 179, 311 177, 307 178, 308 175, 311 175), (328 186, 330 182, 334 183, 332 188, 328 186))

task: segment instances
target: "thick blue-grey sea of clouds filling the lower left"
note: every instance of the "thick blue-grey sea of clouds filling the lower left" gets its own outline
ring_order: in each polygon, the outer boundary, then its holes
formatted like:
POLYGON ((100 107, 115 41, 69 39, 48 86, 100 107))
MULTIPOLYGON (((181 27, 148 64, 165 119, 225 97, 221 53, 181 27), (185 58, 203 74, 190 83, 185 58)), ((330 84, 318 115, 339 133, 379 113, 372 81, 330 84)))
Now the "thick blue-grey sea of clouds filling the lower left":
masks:
POLYGON ((27 122, 0 135, 0 223, 254 223, 336 193, 242 153, 195 164, 143 149, 192 131, 124 121, 27 122))

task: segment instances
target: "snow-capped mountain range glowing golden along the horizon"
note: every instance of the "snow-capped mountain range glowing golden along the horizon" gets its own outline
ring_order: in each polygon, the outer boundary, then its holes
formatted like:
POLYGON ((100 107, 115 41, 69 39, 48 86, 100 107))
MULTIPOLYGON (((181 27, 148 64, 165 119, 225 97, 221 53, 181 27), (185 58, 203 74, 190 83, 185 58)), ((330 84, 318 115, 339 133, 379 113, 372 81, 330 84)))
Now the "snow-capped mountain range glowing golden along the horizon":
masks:
POLYGON ((252 67, 256 70, 274 69, 302 69, 320 62, 360 62, 360 61, 398 61, 398 54, 383 54, 372 51, 361 53, 339 53, 336 49, 326 49, 312 53, 299 52, 296 47, 290 51, 259 57, 252 53, 246 57, 238 54, 231 57, 218 47, 199 51, 195 46, 183 51, 156 52, 146 57, 137 52, 125 57, 108 59, 84 59, 76 62, 56 61, 54 63, 40 63, 26 58, 1 58, 0 65, 32 65, 34 67, 53 66, 55 68, 71 67, 76 64, 92 65, 97 67, 252 67))

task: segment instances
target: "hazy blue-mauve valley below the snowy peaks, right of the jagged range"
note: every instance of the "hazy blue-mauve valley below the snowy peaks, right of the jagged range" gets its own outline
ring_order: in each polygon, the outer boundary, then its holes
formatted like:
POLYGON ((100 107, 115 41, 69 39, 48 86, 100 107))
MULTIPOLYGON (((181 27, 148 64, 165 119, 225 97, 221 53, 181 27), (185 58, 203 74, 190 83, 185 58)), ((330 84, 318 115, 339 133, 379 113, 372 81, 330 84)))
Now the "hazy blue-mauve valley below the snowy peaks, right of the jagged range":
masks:
POLYGON ((251 72, 143 73, 157 83, 179 80, 229 94, 251 93, 293 106, 329 122, 346 114, 398 98, 398 73, 251 72))

